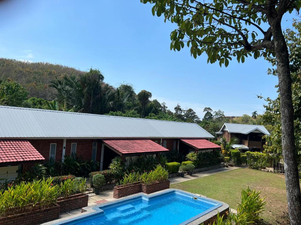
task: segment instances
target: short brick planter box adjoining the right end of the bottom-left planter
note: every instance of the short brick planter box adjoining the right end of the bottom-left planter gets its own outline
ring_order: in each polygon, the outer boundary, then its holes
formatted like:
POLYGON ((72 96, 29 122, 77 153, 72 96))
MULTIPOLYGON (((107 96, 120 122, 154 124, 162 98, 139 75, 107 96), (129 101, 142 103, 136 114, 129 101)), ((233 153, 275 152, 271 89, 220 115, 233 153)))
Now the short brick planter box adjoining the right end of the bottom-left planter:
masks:
POLYGON ((87 194, 75 194, 69 196, 67 199, 57 199, 57 204, 61 206, 60 212, 67 212, 77 208, 88 206, 87 194))

